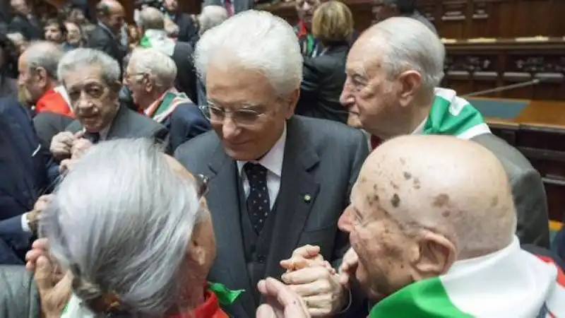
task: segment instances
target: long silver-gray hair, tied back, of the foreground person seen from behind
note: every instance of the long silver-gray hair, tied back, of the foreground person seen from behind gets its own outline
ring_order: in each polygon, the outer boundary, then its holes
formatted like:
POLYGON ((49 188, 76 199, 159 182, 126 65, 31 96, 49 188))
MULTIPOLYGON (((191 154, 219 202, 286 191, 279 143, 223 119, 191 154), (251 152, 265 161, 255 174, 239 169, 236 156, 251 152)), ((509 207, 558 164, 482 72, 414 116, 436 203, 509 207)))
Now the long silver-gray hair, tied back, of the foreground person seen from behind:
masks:
POLYGON ((145 139, 94 146, 57 188, 40 221, 50 251, 93 310, 116 295, 135 317, 162 317, 182 300, 182 268, 204 220, 196 182, 145 139))

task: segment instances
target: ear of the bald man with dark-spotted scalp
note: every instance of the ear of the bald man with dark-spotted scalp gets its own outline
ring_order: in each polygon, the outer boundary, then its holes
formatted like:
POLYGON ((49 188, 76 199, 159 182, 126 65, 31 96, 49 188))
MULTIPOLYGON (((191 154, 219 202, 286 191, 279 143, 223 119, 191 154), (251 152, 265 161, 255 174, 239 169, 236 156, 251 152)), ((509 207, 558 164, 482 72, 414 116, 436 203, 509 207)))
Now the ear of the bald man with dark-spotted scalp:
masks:
POLYGON ((424 232, 418 241, 420 250, 414 264, 415 281, 443 275, 457 259, 455 245, 444 235, 424 232))

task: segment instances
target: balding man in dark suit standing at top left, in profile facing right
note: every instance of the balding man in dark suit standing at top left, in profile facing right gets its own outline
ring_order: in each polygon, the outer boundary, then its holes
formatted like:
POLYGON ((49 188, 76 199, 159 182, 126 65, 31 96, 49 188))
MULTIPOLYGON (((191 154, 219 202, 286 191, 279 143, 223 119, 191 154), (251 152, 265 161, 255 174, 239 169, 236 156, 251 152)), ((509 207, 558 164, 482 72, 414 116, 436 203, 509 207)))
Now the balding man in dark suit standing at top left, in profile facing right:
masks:
POLYGON ((124 6, 116 0, 102 0, 96 6, 98 24, 88 36, 85 47, 100 49, 122 66, 126 48, 121 45, 119 35, 124 25, 124 6))

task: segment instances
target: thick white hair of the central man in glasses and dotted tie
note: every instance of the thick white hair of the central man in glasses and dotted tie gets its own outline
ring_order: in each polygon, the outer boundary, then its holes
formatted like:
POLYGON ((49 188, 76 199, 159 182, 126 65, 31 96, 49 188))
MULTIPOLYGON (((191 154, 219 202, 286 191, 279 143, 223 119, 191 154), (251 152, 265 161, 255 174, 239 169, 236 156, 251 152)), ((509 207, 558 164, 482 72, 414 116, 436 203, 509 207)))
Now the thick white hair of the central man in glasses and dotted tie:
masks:
POLYGON ((266 11, 248 10, 208 30, 196 44, 194 64, 206 81, 211 64, 242 66, 261 72, 280 95, 302 81, 302 54, 292 27, 266 11))

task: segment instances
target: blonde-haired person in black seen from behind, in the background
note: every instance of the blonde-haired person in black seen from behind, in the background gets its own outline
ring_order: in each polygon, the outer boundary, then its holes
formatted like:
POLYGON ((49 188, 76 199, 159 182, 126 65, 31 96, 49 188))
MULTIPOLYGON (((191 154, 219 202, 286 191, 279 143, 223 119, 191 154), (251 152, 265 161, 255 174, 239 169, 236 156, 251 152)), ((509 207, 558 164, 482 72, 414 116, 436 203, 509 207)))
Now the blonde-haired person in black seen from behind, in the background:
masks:
POLYGON ((353 33, 353 15, 347 5, 330 1, 314 13, 312 35, 323 49, 304 59, 304 71, 296 114, 347 123, 347 110, 340 104, 345 83, 347 40, 353 33))

